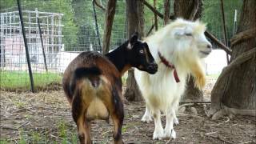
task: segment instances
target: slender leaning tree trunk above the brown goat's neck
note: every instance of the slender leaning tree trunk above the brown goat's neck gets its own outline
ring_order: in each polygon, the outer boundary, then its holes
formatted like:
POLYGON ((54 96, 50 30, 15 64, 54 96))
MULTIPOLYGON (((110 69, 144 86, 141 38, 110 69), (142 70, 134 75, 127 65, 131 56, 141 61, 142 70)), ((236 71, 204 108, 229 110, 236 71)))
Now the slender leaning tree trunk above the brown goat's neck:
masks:
POLYGON ((106 54, 110 50, 110 38, 111 38, 111 31, 112 25, 114 20, 114 13, 115 13, 115 6, 117 0, 109 0, 106 6, 106 20, 105 20, 105 27, 104 27, 104 36, 103 36, 103 50, 102 53, 106 54))

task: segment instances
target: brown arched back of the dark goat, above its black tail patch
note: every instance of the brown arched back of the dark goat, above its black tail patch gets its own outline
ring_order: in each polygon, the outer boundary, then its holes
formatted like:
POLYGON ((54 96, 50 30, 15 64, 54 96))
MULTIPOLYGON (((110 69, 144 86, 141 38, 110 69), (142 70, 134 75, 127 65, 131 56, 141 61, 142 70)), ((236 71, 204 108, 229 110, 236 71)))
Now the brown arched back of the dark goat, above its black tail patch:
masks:
MULTIPOLYGON (((98 69, 101 70, 101 75, 106 79, 110 86, 117 85, 115 87, 118 91, 122 88, 120 73, 112 62, 97 52, 83 52, 70 62, 70 65, 66 68, 66 71, 63 74, 63 89, 70 103, 74 97, 74 93, 70 91, 70 84, 73 80, 72 77, 74 76, 74 71, 79 68, 91 67, 98 67, 98 69)), ((121 91, 118 93, 121 93, 121 91)))

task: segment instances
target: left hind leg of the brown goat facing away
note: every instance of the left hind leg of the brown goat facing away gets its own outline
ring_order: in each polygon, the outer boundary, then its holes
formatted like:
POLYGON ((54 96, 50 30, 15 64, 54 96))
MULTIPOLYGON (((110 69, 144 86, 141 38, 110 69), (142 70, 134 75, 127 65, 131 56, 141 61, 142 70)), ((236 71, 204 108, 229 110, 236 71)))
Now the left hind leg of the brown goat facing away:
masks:
POLYGON ((72 116, 78 127, 78 138, 81 144, 91 144, 90 122, 85 117, 86 106, 82 103, 80 95, 75 95, 72 102, 72 116))

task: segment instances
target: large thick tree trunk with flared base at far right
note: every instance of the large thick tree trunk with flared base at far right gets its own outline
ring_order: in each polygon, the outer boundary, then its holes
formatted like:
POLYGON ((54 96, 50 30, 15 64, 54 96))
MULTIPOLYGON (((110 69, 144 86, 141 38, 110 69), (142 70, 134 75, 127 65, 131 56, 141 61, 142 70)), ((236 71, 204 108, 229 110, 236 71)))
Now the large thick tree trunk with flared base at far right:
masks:
POLYGON ((210 116, 256 115, 256 1, 244 0, 238 32, 231 38, 230 64, 211 93, 210 116))

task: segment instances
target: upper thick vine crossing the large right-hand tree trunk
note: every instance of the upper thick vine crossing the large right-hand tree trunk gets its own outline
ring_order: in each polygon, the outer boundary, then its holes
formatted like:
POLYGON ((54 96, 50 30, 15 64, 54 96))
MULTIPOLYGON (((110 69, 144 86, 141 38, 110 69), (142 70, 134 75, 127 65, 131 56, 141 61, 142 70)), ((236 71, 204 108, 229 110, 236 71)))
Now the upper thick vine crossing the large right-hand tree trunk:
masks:
POLYGON ((234 44, 237 44, 238 42, 242 42, 248 38, 256 37, 256 28, 242 31, 238 34, 235 34, 233 38, 230 39, 231 46, 234 46, 234 44))

